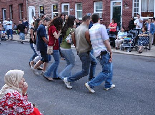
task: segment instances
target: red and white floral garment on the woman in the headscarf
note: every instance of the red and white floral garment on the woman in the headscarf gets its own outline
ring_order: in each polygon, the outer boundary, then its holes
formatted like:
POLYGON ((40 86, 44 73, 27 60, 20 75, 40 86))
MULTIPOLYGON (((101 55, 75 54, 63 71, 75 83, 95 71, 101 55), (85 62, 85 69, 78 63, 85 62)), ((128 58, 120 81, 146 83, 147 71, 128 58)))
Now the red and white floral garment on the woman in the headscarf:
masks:
POLYGON ((0 99, 0 115, 29 115, 33 111, 33 105, 27 96, 22 96, 17 91, 7 93, 0 99))

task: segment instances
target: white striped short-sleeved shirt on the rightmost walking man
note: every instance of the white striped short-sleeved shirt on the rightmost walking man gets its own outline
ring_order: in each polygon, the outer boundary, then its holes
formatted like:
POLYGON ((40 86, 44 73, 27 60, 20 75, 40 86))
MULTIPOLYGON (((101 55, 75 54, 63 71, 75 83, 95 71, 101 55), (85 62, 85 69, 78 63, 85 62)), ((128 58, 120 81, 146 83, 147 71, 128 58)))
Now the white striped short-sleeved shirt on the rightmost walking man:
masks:
POLYGON ((101 54, 101 51, 107 50, 104 45, 104 41, 109 39, 106 27, 99 23, 95 23, 91 29, 89 29, 89 34, 92 48, 94 50, 94 56, 98 57, 101 54))

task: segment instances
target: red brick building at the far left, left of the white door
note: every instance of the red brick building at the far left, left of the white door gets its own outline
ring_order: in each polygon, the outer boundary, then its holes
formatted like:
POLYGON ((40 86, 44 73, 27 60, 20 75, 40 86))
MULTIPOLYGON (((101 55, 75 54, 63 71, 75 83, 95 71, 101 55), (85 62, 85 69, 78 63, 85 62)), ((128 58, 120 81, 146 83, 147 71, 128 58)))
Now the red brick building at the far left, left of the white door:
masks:
POLYGON ((0 0, 0 19, 10 18, 18 24, 20 19, 27 17, 26 0, 0 0))

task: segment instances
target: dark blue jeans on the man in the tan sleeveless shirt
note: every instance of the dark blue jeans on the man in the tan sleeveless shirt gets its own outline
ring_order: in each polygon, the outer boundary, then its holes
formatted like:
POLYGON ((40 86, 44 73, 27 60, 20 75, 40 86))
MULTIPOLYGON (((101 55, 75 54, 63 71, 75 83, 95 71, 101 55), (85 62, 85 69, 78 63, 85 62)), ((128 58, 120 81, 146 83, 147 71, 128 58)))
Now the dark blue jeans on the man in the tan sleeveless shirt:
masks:
MULTIPOLYGON (((80 53, 78 54, 80 57, 80 60, 82 62, 82 70, 78 73, 76 73, 73 76, 68 77, 68 82, 74 82, 79 80, 80 78, 87 76, 89 74, 89 69, 90 69, 90 64, 91 64, 91 55, 90 53, 80 53)), ((93 69, 91 71, 91 77, 94 77, 92 75, 94 75, 95 72, 95 66, 93 66, 91 69, 93 69)))

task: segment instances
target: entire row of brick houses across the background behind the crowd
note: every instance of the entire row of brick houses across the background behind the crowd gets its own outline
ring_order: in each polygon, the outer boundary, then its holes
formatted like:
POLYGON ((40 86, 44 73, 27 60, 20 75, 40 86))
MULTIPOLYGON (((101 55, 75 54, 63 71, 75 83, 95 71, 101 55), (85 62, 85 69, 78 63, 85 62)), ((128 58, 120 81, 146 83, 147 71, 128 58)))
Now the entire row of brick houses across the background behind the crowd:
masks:
POLYGON ((82 19, 86 14, 98 13, 102 23, 109 25, 112 18, 118 25, 128 27, 131 17, 139 13, 144 19, 155 17, 155 0, 0 0, 0 18, 19 19, 47 14, 53 18, 61 12, 82 19))

